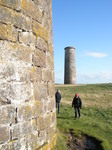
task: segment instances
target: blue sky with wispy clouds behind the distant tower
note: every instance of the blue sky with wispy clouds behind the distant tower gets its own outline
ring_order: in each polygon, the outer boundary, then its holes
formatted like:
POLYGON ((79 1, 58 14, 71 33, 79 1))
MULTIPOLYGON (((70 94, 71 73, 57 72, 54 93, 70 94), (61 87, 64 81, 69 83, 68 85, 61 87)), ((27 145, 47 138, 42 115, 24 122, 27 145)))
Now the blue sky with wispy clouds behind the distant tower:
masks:
POLYGON ((64 48, 76 49, 76 81, 112 82, 112 0, 52 0, 55 82, 64 82, 64 48))

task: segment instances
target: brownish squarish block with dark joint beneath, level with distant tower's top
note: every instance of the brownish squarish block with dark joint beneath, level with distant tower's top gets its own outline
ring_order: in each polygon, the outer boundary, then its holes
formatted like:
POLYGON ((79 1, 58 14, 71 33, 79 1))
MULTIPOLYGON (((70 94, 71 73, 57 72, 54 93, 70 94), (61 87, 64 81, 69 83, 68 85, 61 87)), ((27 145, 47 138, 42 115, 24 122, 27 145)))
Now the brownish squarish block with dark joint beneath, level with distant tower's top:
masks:
POLYGON ((36 49, 33 54, 32 62, 36 67, 46 67, 46 53, 36 49))

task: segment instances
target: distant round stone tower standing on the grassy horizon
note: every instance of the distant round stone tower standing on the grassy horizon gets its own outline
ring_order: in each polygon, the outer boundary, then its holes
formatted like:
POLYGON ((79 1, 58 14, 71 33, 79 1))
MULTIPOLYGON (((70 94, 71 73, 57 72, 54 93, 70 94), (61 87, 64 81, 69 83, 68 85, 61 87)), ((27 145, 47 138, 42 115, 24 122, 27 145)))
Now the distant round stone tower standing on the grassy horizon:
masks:
POLYGON ((65 47, 64 84, 76 84, 75 48, 65 47))

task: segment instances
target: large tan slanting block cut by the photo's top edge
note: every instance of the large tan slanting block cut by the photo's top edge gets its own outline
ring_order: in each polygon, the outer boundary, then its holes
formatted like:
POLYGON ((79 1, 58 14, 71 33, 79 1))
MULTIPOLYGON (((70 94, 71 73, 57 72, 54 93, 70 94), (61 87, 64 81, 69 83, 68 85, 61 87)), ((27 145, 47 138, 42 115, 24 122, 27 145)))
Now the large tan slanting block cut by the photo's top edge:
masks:
POLYGON ((42 10, 32 0, 22 0, 21 9, 24 14, 42 23, 42 10))

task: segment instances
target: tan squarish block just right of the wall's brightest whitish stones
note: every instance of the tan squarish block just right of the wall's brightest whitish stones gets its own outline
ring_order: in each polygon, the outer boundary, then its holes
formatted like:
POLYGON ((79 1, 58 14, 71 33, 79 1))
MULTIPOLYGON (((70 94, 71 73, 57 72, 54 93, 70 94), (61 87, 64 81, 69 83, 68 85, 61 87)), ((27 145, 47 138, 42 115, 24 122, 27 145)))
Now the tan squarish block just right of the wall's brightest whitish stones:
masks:
POLYGON ((35 100, 46 99, 47 96, 47 85, 42 82, 34 83, 34 98, 35 100))

